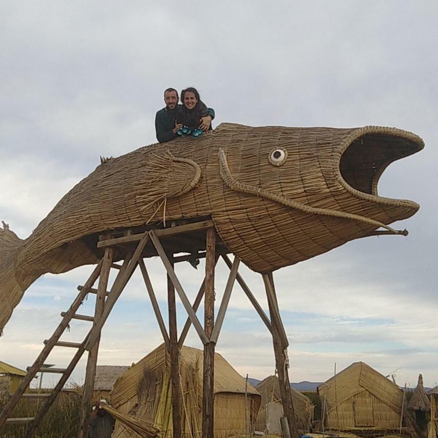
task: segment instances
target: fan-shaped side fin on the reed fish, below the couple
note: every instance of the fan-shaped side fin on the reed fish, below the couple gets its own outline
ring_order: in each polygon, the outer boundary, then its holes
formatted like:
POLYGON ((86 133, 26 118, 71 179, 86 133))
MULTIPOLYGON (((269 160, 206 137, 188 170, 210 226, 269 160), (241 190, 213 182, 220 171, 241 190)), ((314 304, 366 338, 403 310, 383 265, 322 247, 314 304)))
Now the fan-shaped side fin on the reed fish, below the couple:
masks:
POLYGON ((201 168, 195 161, 176 157, 168 149, 162 154, 153 154, 149 165, 138 173, 139 183, 135 187, 138 208, 144 214, 150 211, 155 216, 165 200, 188 193, 200 179, 201 168))

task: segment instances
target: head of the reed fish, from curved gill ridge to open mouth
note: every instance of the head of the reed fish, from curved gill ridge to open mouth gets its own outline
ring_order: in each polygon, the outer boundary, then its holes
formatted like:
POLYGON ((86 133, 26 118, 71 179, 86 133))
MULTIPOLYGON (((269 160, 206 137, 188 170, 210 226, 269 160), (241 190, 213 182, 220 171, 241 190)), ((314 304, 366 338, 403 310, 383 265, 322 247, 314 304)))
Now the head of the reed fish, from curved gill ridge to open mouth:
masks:
MULTIPOLYGON (((390 163, 424 146, 410 132, 242 127, 232 138, 219 148, 222 180, 240 194, 229 210, 230 235, 234 227, 245 242, 240 245, 245 257, 258 253, 252 258, 259 262, 249 263, 256 271, 305 260, 380 227, 405 235, 388 224, 419 209, 414 201, 384 198, 377 191, 390 163)), ((236 236, 232 240, 236 243, 236 236)))

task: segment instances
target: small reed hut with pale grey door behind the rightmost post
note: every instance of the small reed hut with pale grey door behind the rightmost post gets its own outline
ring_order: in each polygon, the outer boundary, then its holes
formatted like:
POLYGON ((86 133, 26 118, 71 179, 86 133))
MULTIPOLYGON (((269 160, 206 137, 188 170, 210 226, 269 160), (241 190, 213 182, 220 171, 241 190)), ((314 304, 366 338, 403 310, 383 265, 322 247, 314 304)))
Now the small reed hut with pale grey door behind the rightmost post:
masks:
MULTIPOLYGON (((278 377, 267 377, 258 383, 256 390, 260 393, 261 404, 255 423, 255 430, 264 431, 269 435, 281 435, 280 418, 283 417, 284 413, 278 377)), ((310 431, 314 406, 308 397, 292 387, 291 396, 298 433, 304 435, 310 431)))

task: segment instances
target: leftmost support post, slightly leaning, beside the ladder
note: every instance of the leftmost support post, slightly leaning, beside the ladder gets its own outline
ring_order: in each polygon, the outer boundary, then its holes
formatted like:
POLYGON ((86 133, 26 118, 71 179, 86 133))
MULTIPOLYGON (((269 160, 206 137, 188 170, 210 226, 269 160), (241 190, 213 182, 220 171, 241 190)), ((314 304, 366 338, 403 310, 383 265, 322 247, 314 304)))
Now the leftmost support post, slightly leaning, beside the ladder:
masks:
MULTIPOLYGON (((97 287, 96 304, 94 307, 94 323, 97 324, 102 315, 107 295, 108 279, 112 265, 114 250, 106 248, 103 256, 102 270, 100 272, 99 285, 97 287)), ((85 372, 84 392, 82 394, 82 406, 79 414, 78 438, 88 437, 88 418, 91 412, 91 399, 94 390, 94 380, 96 377, 97 354, 99 351, 100 333, 93 347, 88 353, 87 368, 85 372)))

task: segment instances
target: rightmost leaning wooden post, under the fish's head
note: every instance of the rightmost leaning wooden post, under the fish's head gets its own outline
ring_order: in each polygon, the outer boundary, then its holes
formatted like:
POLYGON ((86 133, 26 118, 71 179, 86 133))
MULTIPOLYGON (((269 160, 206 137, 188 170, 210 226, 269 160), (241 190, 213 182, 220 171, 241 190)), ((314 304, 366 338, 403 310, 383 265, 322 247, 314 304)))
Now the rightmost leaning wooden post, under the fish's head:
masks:
POLYGON ((265 283, 266 295, 268 297, 269 313, 271 315, 275 366, 278 372, 278 381, 280 385, 280 395, 283 404, 284 416, 287 418, 291 438, 298 438, 295 413, 292 404, 291 384, 289 381, 287 346, 285 347, 285 340, 283 339, 283 336, 285 337, 286 333, 284 332, 283 323, 278 312, 277 299, 274 289, 274 277, 272 273, 263 274, 263 281, 265 283))

